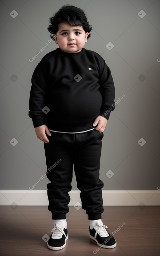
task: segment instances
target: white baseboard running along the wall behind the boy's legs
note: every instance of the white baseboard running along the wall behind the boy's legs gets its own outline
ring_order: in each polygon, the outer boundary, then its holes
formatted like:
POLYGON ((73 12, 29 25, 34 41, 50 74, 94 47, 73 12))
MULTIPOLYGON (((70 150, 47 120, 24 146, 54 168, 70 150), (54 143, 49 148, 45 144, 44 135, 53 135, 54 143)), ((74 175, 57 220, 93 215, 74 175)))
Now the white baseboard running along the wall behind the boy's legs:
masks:
MULTIPOLYGON (((81 204, 72 190, 70 206, 81 204)), ((102 190, 104 206, 160 205, 160 190, 102 190)), ((0 205, 48 205, 47 190, 0 190, 0 205)), ((78 206, 77 206, 78 207, 78 206)))

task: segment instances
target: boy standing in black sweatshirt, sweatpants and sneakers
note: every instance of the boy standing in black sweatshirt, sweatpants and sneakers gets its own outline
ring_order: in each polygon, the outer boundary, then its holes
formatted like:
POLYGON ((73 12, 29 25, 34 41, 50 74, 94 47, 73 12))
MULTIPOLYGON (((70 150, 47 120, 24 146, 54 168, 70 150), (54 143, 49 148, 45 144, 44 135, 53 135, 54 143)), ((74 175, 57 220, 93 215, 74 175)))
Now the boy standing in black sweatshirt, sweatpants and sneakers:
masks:
POLYGON ((29 116, 44 142, 51 181, 47 195, 54 228, 47 246, 52 250, 66 246, 74 165, 82 208, 90 220, 90 238, 103 248, 114 248, 116 241, 101 220, 104 184, 99 179, 101 140, 115 107, 111 71, 99 54, 83 48, 92 27, 82 9, 62 6, 50 23, 48 31, 59 48, 36 67, 29 102, 29 116))

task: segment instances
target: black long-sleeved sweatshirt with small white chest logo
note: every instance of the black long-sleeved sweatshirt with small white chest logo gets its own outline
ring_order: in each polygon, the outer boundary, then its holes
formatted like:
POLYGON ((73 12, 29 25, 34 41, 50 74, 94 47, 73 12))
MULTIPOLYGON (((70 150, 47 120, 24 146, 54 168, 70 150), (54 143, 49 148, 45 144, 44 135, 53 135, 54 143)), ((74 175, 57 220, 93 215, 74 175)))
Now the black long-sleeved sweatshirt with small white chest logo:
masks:
POLYGON ((47 53, 32 75, 29 117, 33 126, 76 133, 94 128, 98 115, 109 118, 115 88, 111 71, 96 52, 47 53))

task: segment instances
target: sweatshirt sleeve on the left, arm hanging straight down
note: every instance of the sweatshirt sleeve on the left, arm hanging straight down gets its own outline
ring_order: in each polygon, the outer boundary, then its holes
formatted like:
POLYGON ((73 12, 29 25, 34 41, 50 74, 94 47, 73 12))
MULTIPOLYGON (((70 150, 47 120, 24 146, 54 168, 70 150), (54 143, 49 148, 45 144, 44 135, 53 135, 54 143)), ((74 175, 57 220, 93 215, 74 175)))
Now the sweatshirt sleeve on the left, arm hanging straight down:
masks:
POLYGON ((32 118, 33 126, 38 127, 45 125, 43 121, 46 91, 47 91, 47 74, 41 68, 40 63, 35 68, 31 78, 31 91, 29 99, 29 117, 32 118))

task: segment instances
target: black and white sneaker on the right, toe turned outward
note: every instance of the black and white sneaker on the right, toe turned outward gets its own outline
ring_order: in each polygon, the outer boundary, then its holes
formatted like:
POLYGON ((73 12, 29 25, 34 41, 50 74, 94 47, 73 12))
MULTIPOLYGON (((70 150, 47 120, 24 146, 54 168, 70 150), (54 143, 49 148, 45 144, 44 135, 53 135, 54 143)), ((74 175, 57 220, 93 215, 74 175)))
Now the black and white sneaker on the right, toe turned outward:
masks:
POLYGON ((97 221, 97 226, 90 229, 90 238, 97 242, 97 244, 102 248, 114 248, 116 247, 116 240, 109 234, 102 222, 97 221))

